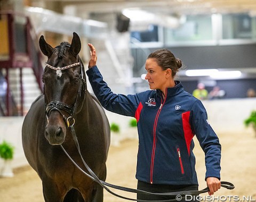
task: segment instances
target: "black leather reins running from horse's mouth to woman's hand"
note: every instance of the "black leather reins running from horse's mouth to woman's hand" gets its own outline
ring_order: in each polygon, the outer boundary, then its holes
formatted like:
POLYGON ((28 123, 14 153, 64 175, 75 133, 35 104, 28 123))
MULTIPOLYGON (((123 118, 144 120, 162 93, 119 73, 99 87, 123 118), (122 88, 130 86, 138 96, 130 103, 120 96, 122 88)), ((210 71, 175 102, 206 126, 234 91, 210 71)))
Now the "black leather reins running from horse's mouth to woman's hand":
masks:
MULTIPOLYGON (((77 165, 77 163, 70 157, 70 155, 67 153, 67 151, 65 150, 65 148, 60 145, 60 147, 62 148, 63 152, 68 156, 68 158, 70 159, 71 162, 73 162, 73 164, 80 170, 82 171, 86 176, 88 176, 90 179, 92 179, 93 181, 97 182, 102 188, 106 189, 109 193, 111 193, 112 195, 119 197, 119 198, 123 198, 126 200, 132 200, 132 201, 138 201, 138 202, 169 202, 169 201, 177 201, 177 199, 167 199, 167 200, 140 200, 140 199, 132 199, 132 198, 128 198, 128 197, 124 197, 121 195, 118 195, 117 193, 114 193, 113 191, 111 191, 108 187, 114 188, 114 189, 118 189, 118 190, 122 190, 122 191, 127 191, 127 192, 133 192, 133 193, 145 193, 148 195, 158 195, 158 196, 185 196, 185 195, 198 195, 200 193, 206 193, 209 191, 209 188, 206 187, 205 189, 199 190, 199 191, 177 191, 177 192, 165 192, 165 193, 153 193, 153 192, 148 192, 148 191, 143 191, 143 190, 139 190, 139 189, 132 189, 132 188, 126 188, 126 187, 121 187, 121 186, 116 186, 114 184, 110 184, 107 183, 105 181, 102 181, 98 178, 98 176, 91 170, 91 168, 89 167, 89 165, 87 165, 87 163, 84 161, 84 158, 81 154, 81 150, 80 150, 80 146, 77 140, 77 136, 76 136, 76 131, 74 129, 73 125, 70 125, 70 130, 71 130, 71 134, 73 137, 73 140, 75 142, 77 151, 82 159, 82 162, 84 164, 84 166, 86 167, 86 169, 89 171, 90 174, 86 173, 83 169, 81 169, 81 167, 79 167, 79 165, 77 165), (108 187, 106 187, 108 186, 108 187)), ((230 183, 230 182, 225 182, 222 181, 221 182, 221 187, 224 187, 226 189, 234 189, 235 186, 234 184, 230 183)))

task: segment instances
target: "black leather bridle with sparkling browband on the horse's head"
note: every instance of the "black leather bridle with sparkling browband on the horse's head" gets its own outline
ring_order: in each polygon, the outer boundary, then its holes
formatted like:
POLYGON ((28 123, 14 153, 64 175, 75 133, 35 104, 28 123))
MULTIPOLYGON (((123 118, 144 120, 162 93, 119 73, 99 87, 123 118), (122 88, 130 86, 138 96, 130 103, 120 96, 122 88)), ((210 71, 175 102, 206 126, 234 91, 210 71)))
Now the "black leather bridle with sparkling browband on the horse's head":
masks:
POLYGON ((82 96, 82 91, 86 91, 86 82, 85 82, 85 74, 83 71, 83 65, 81 62, 77 62, 77 63, 73 63, 67 66, 63 66, 63 67, 54 67, 51 66, 50 64, 45 63, 45 66, 47 66, 47 68, 50 68, 52 70, 58 71, 58 70, 66 70, 69 68, 73 68, 74 66, 81 66, 81 74, 79 76, 79 87, 78 87, 78 93, 76 96, 76 101, 74 103, 74 105, 72 107, 70 107, 69 105, 62 103, 60 101, 51 101, 49 104, 47 104, 45 106, 45 116, 47 118, 47 122, 49 122, 49 116, 51 114, 51 112, 53 110, 58 111, 63 120, 66 122, 67 127, 69 128, 70 125, 74 125, 75 124, 75 119, 74 119, 74 115, 76 113, 76 108, 77 108, 77 101, 78 101, 78 95, 82 96), (68 117, 65 116, 65 114, 62 113, 62 111, 65 111, 66 113, 68 113, 68 117))

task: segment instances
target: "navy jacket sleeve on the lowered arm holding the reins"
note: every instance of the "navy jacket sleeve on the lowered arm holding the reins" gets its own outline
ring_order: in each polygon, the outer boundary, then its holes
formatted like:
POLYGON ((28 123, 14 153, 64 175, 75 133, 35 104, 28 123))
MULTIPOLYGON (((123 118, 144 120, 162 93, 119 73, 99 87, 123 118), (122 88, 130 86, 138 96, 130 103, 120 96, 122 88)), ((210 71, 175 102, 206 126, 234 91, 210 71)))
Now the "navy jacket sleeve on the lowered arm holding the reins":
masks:
POLYGON ((221 145, 217 134, 207 120, 206 110, 200 100, 197 100, 191 108, 190 122, 205 153, 205 180, 208 177, 220 180, 221 145))

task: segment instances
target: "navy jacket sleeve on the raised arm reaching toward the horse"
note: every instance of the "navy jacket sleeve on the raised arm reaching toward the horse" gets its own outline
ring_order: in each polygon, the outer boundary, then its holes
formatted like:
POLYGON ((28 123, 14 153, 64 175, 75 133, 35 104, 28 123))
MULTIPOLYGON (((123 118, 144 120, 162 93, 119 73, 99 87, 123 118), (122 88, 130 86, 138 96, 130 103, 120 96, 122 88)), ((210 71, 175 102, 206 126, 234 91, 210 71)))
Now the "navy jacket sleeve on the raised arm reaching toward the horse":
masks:
POLYGON ((86 74, 89 77, 95 96, 106 110, 125 116, 135 116, 135 111, 139 105, 137 95, 114 94, 107 83, 103 81, 97 66, 87 70, 86 74))

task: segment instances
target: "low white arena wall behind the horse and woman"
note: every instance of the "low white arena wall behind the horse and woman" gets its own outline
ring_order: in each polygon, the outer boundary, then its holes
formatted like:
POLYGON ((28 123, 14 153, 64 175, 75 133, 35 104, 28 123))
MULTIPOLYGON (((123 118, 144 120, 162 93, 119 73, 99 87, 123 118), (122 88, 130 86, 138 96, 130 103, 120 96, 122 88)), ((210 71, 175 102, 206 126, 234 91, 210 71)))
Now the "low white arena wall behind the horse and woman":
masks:
MULTIPOLYGON (((244 99, 223 99, 223 100, 204 100, 210 124, 215 132, 225 133, 245 132, 252 133, 251 128, 246 129, 243 121, 250 115, 252 110, 256 110, 256 98, 244 99)), ((109 123, 118 123, 121 127, 120 136, 128 138, 129 121, 131 117, 106 112, 109 123)), ((21 129, 23 117, 0 117, 0 142, 6 140, 15 147, 13 167, 26 165, 27 161, 23 153, 21 141, 21 129)), ((134 138, 131 137, 131 138, 134 138)), ((0 159, 0 166, 3 161, 0 159)))

